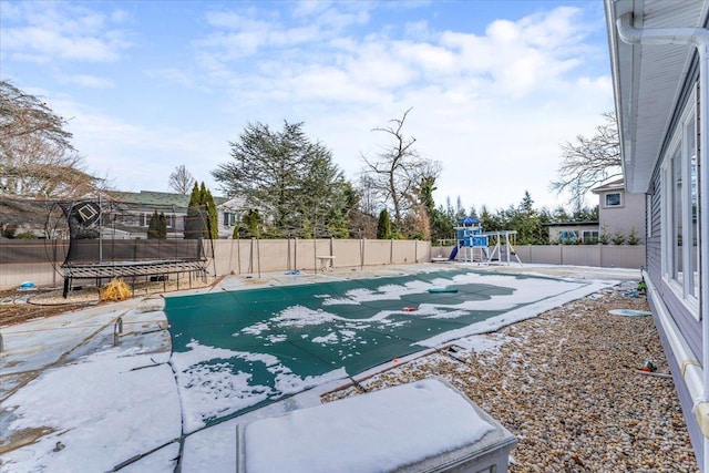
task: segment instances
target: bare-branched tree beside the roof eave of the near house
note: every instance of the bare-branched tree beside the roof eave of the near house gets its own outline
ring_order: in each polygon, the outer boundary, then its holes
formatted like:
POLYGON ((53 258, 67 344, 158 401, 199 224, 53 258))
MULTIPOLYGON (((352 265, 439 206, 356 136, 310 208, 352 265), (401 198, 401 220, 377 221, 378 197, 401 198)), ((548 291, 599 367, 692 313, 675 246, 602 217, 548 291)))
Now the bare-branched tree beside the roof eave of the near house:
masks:
POLYGON ((577 207, 592 188, 623 175, 620 140, 614 112, 603 113, 604 122, 593 136, 576 136, 576 142, 562 145, 562 165, 558 181, 551 184, 557 194, 566 191, 577 207))

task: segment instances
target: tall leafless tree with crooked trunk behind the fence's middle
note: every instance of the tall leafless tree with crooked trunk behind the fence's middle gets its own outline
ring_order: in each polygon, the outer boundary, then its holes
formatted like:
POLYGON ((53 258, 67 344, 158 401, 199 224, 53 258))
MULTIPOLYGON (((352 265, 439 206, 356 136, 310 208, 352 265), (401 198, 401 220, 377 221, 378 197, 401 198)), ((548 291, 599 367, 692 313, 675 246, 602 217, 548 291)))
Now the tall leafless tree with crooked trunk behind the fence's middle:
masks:
POLYGON ((377 156, 362 156, 364 168, 362 175, 369 188, 374 191, 386 205, 393 210, 394 229, 402 228, 407 209, 419 202, 418 186, 424 177, 438 177, 441 173, 440 163, 423 160, 413 147, 414 137, 404 136, 402 128, 411 109, 401 119, 389 121, 388 126, 376 127, 372 131, 387 134, 392 144, 377 156))

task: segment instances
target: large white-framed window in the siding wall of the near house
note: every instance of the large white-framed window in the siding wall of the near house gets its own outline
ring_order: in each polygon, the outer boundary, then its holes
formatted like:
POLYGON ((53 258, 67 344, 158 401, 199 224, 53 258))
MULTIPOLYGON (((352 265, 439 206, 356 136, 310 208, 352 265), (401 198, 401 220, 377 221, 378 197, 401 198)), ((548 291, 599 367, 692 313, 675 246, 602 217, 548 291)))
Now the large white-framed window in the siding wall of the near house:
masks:
POLYGON ((661 167, 662 274, 699 318, 699 223, 697 220, 697 112, 690 99, 661 167))

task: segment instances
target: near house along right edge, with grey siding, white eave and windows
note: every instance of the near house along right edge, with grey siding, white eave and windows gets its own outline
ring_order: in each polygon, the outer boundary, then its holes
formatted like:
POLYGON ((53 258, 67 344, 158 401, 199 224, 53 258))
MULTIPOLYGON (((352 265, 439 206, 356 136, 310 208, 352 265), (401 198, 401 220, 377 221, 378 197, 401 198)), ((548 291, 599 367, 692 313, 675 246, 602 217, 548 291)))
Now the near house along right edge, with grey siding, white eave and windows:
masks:
POLYGON ((626 189, 647 195, 647 297, 709 472, 709 2, 605 10, 626 189))

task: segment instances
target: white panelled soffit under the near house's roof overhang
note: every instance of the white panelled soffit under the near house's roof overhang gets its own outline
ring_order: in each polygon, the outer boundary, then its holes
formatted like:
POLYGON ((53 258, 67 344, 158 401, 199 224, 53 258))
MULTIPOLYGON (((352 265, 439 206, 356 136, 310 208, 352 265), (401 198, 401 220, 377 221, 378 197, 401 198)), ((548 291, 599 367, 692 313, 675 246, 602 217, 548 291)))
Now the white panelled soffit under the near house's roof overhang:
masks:
POLYGON ((615 29, 615 20, 633 11, 634 27, 697 28, 703 0, 610 1, 607 12, 610 31, 614 88, 620 122, 624 175, 628 192, 644 193, 649 187, 660 158, 665 135, 679 97, 695 48, 690 45, 630 45, 615 29), (613 21, 613 23, 610 22, 613 21), (615 51, 614 51, 615 48, 615 51), (621 115, 621 116, 620 116, 621 115))

